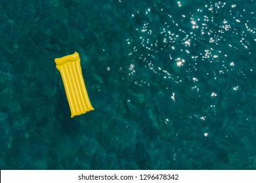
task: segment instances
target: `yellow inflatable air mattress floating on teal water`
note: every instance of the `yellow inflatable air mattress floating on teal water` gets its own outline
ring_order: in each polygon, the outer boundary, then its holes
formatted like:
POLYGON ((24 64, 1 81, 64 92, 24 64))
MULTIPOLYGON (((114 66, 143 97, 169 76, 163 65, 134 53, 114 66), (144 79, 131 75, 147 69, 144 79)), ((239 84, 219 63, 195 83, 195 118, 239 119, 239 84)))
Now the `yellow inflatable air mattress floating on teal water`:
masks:
POLYGON ((75 52, 62 58, 56 58, 54 61, 62 77, 70 105, 71 118, 94 110, 85 88, 79 54, 75 52))

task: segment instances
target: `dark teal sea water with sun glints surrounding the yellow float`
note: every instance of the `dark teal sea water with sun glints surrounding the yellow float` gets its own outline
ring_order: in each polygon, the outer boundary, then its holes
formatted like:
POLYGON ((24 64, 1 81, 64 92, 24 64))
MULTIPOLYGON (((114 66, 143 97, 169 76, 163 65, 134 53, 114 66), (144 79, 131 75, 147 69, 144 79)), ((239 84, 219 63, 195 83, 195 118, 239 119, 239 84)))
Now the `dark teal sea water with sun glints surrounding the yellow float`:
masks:
POLYGON ((1 169, 256 169, 256 3, 0 1, 1 169), (95 110, 70 118, 54 58, 95 110))

